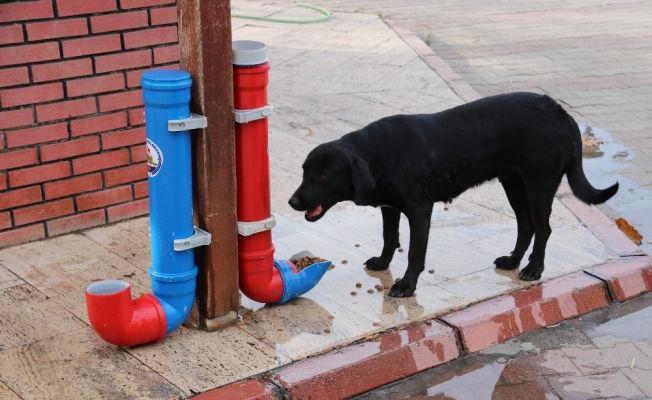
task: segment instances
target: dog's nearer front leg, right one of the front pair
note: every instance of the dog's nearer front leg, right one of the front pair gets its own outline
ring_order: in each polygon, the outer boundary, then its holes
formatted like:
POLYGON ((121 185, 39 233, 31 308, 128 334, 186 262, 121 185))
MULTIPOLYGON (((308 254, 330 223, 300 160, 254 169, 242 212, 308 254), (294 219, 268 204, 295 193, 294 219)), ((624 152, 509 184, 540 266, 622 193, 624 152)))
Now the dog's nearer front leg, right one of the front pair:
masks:
POLYGON ((428 233, 430 233, 430 216, 432 204, 413 210, 407 214, 410 223, 410 249, 408 251, 408 269, 403 278, 392 285, 389 290, 391 297, 410 297, 417 288, 419 275, 423 272, 428 248, 428 233))

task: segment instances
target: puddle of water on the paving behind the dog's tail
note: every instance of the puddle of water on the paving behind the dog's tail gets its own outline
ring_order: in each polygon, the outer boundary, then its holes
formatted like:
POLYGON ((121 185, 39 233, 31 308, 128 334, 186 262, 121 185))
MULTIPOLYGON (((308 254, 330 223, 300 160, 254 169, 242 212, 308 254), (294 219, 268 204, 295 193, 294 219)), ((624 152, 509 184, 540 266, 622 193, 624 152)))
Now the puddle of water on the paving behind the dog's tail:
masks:
POLYGON ((585 146, 583 163, 589 182, 598 188, 608 187, 615 181, 620 183, 618 193, 607 201, 607 206, 613 210, 614 219, 625 218, 643 235, 641 248, 652 254, 652 191, 622 175, 631 167, 636 152, 616 142, 610 133, 601 129, 580 124, 580 130, 583 135, 588 133, 591 136, 589 151, 585 146))

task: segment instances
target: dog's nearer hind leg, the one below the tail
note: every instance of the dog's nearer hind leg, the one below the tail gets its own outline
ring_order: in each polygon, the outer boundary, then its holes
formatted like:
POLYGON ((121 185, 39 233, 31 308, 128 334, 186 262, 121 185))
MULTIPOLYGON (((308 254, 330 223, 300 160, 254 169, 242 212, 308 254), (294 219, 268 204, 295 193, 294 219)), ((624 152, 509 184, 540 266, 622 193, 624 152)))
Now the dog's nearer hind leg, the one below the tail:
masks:
POLYGON ((535 281, 541 278, 543 273, 546 244, 552 232, 550 229, 552 201, 560 180, 561 175, 556 180, 548 176, 525 181, 530 217, 534 228, 534 245, 528 265, 519 274, 524 281, 535 281))

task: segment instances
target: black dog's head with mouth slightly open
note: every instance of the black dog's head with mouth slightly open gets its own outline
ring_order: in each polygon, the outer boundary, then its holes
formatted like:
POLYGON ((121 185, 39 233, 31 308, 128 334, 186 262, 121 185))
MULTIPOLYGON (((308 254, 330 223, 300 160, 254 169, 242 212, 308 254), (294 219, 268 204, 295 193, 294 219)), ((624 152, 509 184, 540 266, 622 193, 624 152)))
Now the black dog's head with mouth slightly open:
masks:
POLYGON ((339 141, 324 143, 308 154, 303 181, 289 204, 314 222, 340 201, 366 204, 374 186, 369 165, 353 147, 339 141))

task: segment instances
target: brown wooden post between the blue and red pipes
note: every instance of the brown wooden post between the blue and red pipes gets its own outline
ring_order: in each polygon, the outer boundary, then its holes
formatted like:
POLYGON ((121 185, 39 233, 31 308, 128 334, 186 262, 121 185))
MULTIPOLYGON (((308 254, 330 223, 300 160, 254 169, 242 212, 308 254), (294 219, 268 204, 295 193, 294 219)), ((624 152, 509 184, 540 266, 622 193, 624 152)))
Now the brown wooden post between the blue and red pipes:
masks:
POLYGON ((198 321, 208 330, 237 320, 238 236, 231 62, 231 2, 179 0, 181 68, 192 74, 191 109, 208 118, 193 136, 197 222, 213 235, 197 252, 198 321))

